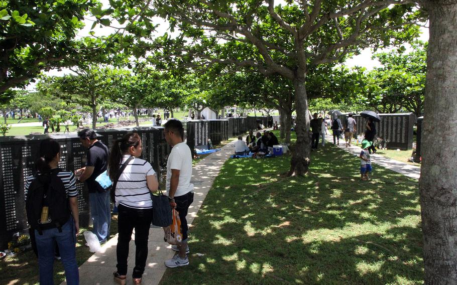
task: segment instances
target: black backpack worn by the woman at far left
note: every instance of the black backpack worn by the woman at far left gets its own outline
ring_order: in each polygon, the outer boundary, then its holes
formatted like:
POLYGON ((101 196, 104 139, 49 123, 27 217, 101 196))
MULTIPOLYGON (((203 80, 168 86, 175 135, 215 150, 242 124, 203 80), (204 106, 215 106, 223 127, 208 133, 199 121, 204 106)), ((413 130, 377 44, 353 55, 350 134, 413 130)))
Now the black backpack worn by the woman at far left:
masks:
POLYGON ((70 219, 70 208, 68 205, 65 185, 57 176, 61 169, 54 169, 42 175, 35 175, 35 179, 29 186, 26 198, 26 211, 29 225, 32 229, 42 234, 43 230, 58 228, 70 219), (42 223, 41 212, 43 206, 47 206, 48 221, 42 223))

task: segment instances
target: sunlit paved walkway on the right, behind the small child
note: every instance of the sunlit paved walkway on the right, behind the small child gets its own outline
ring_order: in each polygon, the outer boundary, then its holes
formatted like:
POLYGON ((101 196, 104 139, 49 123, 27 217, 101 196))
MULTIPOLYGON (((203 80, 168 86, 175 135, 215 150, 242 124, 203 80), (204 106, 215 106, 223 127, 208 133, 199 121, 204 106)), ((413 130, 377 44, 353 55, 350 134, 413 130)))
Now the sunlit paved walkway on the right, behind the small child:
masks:
MULTIPOLYGON (((354 141, 354 139, 353 139, 353 141, 354 141)), ((325 143, 333 144, 333 135, 331 135, 331 134, 325 135, 325 143)), ((320 144, 320 141, 319 141, 319 144, 320 144)), ((339 139, 339 146, 337 146, 337 147, 342 150, 345 150, 348 153, 353 154, 357 157, 360 155, 360 152, 362 151, 362 149, 360 147, 354 146, 354 145, 347 148, 346 141, 344 138, 339 139)), ((410 178, 413 178, 416 180, 418 180, 420 177, 420 167, 415 166, 415 165, 410 165, 410 164, 407 164, 407 163, 404 163, 401 161, 389 159, 385 156, 376 155, 376 154, 371 155, 371 161, 373 162, 373 164, 382 166, 384 168, 390 169, 392 171, 395 171, 397 173, 403 174, 404 176, 407 176, 407 177, 410 177, 410 178)))

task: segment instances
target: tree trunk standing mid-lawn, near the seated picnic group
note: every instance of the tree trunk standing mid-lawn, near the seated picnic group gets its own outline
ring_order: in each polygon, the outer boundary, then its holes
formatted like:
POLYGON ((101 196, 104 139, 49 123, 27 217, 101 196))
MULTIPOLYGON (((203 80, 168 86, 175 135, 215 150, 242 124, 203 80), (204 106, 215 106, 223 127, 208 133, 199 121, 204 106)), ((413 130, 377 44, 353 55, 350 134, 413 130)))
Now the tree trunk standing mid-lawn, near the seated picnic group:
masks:
POLYGON ((294 80, 295 93, 295 132, 297 144, 290 160, 289 176, 302 176, 308 172, 311 153, 311 137, 309 136, 308 100, 306 98, 305 78, 294 80))

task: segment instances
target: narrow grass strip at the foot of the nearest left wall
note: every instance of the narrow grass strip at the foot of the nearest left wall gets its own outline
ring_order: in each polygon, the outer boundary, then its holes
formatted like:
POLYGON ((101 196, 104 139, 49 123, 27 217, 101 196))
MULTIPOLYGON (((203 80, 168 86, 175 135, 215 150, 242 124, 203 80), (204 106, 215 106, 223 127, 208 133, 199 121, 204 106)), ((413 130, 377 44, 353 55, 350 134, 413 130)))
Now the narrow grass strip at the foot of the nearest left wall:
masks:
MULTIPOLYGON (((83 232, 86 228, 79 229, 79 235, 76 237, 76 261, 78 266, 81 266, 90 256, 92 252, 84 246, 86 243, 83 232)), ((110 238, 118 233, 118 216, 112 215, 110 238)), ((116 258, 116 256, 114 257, 116 258)), ((113 269, 114 270, 114 269, 113 269)), ((13 257, 8 256, 0 261, 0 280, 2 284, 22 284, 22 285, 38 285, 38 258, 32 250, 20 252, 13 257)), ((55 260, 54 262, 54 283, 60 284, 65 280, 65 271, 62 262, 55 260)), ((111 280, 111 279, 109 279, 111 280)))

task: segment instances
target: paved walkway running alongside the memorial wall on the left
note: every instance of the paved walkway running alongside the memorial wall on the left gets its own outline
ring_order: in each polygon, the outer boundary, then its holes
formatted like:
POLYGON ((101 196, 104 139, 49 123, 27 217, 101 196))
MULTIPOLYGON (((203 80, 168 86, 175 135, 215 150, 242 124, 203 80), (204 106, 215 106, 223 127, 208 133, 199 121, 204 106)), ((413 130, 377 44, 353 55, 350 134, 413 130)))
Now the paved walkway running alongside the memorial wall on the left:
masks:
MULTIPOLYGON (((228 143, 219 152, 212 153, 193 166, 192 180, 194 184, 194 201, 189 208, 187 221, 189 225, 197 216, 200 206, 212 186, 214 179, 224 162, 234 153, 234 144, 228 143)), ((132 270, 135 267, 135 233, 130 242, 127 284, 133 284, 132 270)), ((80 284, 82 285, 106 285, 117 284, 112 278, 112 272, 116 271, 116 245, 118 235, 108 240, 100 252, 94 253, 86 262, 79 267, 80 284)), ((163 241, 162 228, 151 228, 149 232, 149 253, 146 261, 146 270, 143 274, 143 285, 158 284, 165 273, 164 261, 174 255, 171 245, 163 241)), ((88 250, 88 249, 87 249, 88 250)), ((192 262, 192 252, 189 255, 192 262)), ((62 282, 62 285, 66 282, 62 282)))

